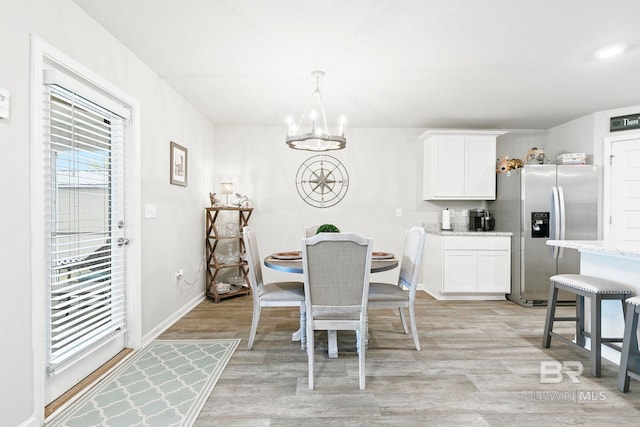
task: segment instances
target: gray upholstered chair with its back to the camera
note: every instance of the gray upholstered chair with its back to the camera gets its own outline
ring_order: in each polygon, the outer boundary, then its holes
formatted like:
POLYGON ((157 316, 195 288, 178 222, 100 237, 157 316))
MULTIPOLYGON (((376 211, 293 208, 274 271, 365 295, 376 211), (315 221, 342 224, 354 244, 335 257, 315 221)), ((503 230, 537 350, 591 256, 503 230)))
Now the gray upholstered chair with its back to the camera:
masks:
POLYGON ((314 331, 356 331, 360 389, 365 388, 367 300, 373 240, 354 233, 303 239, 309 389, 313 390, 314 331))

